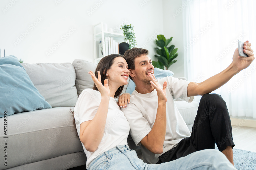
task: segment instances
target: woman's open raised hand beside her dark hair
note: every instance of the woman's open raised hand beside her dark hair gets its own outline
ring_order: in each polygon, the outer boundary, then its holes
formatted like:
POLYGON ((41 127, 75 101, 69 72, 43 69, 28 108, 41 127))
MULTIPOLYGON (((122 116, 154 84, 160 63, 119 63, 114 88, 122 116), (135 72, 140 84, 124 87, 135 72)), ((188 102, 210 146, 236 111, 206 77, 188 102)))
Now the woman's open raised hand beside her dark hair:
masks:
POLYGON ((104 86, 103 86, 100 79, 100 71, 97 71, 97 72, 98 72, 98 79, 96 78, 95 74, 92 71, 89 71, 88 73, 92 76, 92 80, 95 83, 96 87, 98 88, 101 96, 110 97, 108 79, 104 80, 104 86))

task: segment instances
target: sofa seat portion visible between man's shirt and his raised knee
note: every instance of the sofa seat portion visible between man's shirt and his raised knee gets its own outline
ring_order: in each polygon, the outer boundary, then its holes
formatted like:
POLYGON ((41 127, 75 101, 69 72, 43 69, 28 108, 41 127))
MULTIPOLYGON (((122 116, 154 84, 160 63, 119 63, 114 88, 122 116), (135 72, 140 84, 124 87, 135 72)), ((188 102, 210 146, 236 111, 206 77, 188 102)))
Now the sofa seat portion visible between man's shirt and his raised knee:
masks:
POLYGON ((178 108, 181 116, 183 117, 185 123, 187 125, 193 124, 197 114, 199 103, 195 101, 188 103, 186 101, 177 101, 177 100, 175 100, 174 103, 178 108))

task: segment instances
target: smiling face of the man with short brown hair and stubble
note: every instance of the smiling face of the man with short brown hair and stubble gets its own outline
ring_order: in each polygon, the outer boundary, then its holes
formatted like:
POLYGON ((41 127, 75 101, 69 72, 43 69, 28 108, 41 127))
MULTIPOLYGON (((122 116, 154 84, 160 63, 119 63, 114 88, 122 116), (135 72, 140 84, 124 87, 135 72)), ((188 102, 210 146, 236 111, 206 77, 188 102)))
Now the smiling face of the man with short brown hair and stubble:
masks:
MULTIPOLYGON (((135 69, 133 79, 150 84, 149 74, 154 74, 154 66, 152 65, 151 58, 148 55, 141 55, 134 59, 135 69)), ((151 85, 151 84, 150 84, 151 85)))

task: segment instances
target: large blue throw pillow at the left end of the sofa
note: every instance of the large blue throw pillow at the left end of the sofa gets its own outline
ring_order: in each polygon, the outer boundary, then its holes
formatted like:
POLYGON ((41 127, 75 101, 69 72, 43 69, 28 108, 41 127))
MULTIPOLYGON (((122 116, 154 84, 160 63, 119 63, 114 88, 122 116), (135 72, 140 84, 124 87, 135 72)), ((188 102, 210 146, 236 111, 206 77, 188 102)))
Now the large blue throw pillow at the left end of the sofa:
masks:
POLYGON ((0 117, 51 108, 15 56, 0 58, 0 117))

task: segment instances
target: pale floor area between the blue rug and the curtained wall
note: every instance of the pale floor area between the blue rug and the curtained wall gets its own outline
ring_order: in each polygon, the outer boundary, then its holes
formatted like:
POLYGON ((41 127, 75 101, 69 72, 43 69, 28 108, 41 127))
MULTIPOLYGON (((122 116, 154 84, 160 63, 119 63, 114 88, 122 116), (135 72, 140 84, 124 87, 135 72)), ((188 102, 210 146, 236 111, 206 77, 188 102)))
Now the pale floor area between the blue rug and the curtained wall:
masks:
POLYGON ((236 149, 256 152, 256 128, 245 126, 232 126, 233 141, 236 149))

